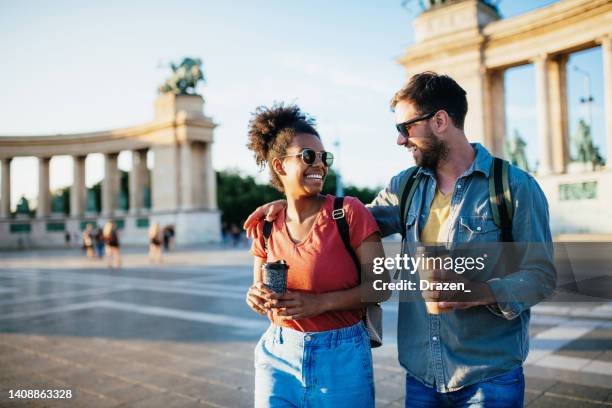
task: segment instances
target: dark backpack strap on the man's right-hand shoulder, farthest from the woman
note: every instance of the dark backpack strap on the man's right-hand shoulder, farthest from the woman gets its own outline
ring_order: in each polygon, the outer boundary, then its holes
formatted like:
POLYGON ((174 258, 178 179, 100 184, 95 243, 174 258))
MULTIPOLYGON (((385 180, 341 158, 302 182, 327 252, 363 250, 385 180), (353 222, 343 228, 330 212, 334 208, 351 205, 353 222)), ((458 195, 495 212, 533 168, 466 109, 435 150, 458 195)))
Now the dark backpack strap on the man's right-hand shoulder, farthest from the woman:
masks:
POLYGON ((489 174, 489 200, 493 212, 493 221, 502 232, 503 242, 512 242, 512 217, 514 206, 509 181, 510 163, 494 157, 489 174))

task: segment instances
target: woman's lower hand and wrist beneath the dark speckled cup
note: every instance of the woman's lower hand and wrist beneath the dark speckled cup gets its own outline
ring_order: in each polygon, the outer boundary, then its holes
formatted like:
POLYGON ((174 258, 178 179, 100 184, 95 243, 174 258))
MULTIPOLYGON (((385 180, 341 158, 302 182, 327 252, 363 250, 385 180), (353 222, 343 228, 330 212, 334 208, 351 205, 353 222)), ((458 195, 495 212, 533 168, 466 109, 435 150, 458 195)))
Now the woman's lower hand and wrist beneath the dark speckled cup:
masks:
POLYGON ((326 295, 286 291, 267 296, 264 307, 274 310, 282 320, 297 320, 317 316, 326 311, 326 295))

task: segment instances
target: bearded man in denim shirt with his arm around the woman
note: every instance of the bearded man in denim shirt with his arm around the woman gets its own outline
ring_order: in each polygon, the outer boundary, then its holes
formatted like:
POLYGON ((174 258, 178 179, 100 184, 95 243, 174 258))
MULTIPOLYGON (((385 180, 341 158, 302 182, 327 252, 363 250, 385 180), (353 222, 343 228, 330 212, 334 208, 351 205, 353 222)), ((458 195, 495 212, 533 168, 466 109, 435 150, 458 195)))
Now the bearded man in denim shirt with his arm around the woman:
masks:
MULTIPOLYGON (((397 144, 411 151, 420 174, 405 218, 406 251, 420 243, 500 241, 489 192, 493 157, 482 145, 470 144, 463 131, 465 91, 446 75, 424 72, 395 94, 391 108, 397 144)), ((368 205, 383 236, 403 230, 400 196, 409 172, 393 177, 368 205)), ((544 194, 517 167, 510 166, 508 180, 513 241, 539 245, 519 245, 515 265, 505 274, 462 278, 472 296, 439 302, 446 313, 430 314, 422 301, 400 302, 398 352, 407 372, 406 407, 523 405, 529 308, 552 293, 556 273, 544 194)), ((253 218, 274 217, 280 208, 278 202, 260 207, 253 218)), ((489 269, 509 265, 493 262, 489 269)))

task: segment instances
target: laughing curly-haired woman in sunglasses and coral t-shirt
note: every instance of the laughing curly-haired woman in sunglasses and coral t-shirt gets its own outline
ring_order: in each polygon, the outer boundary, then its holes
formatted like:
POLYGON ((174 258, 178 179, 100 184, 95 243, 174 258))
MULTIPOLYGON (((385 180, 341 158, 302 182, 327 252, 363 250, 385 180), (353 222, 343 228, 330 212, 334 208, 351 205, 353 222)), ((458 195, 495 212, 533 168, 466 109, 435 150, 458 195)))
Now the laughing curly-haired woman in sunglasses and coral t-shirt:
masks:
MULTIPOLYGON (((373 407, 359 276, 332 218, 334 197, 321 194, 333 155, 324 150, 314 120, 294 105, 258 108, 248 147, 287 198, 267 243, 261 238, 251 248, 254 283, 247 304, 272 323, 255 349, 255 406, 373 407), (261 282, 264 262, 278 260, 289 266, 282 295, 261 282)), ((378 226, 355 198, 347 197, 343 209, 365 287, 374 279, 372 259, 384 256, 378 226)), ((263 223, 258 228, 263 231, 263 223)), ((388 293, 376 296, 370 300, 388 293)))

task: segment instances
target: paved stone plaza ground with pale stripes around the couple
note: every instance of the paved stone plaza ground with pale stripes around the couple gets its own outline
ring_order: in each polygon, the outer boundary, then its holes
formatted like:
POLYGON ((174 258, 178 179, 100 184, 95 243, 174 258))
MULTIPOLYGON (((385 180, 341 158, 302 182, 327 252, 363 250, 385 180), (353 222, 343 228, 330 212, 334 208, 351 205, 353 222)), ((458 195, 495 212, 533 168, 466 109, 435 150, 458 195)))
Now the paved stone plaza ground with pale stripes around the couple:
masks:
MULTIPOLYGON (((144 249, 109 270, 78 250, 0 252, 0 406, 249 407, 266 321, 244 302, 246 249, 144 249), (9 399, 9 390, 72 399, 9 399)), ((377 406, 402 407, 397 304, 374 351, 377 406)), ((531 326, 529 407, 612 407, 612 304, 544 304, 531 326)))

